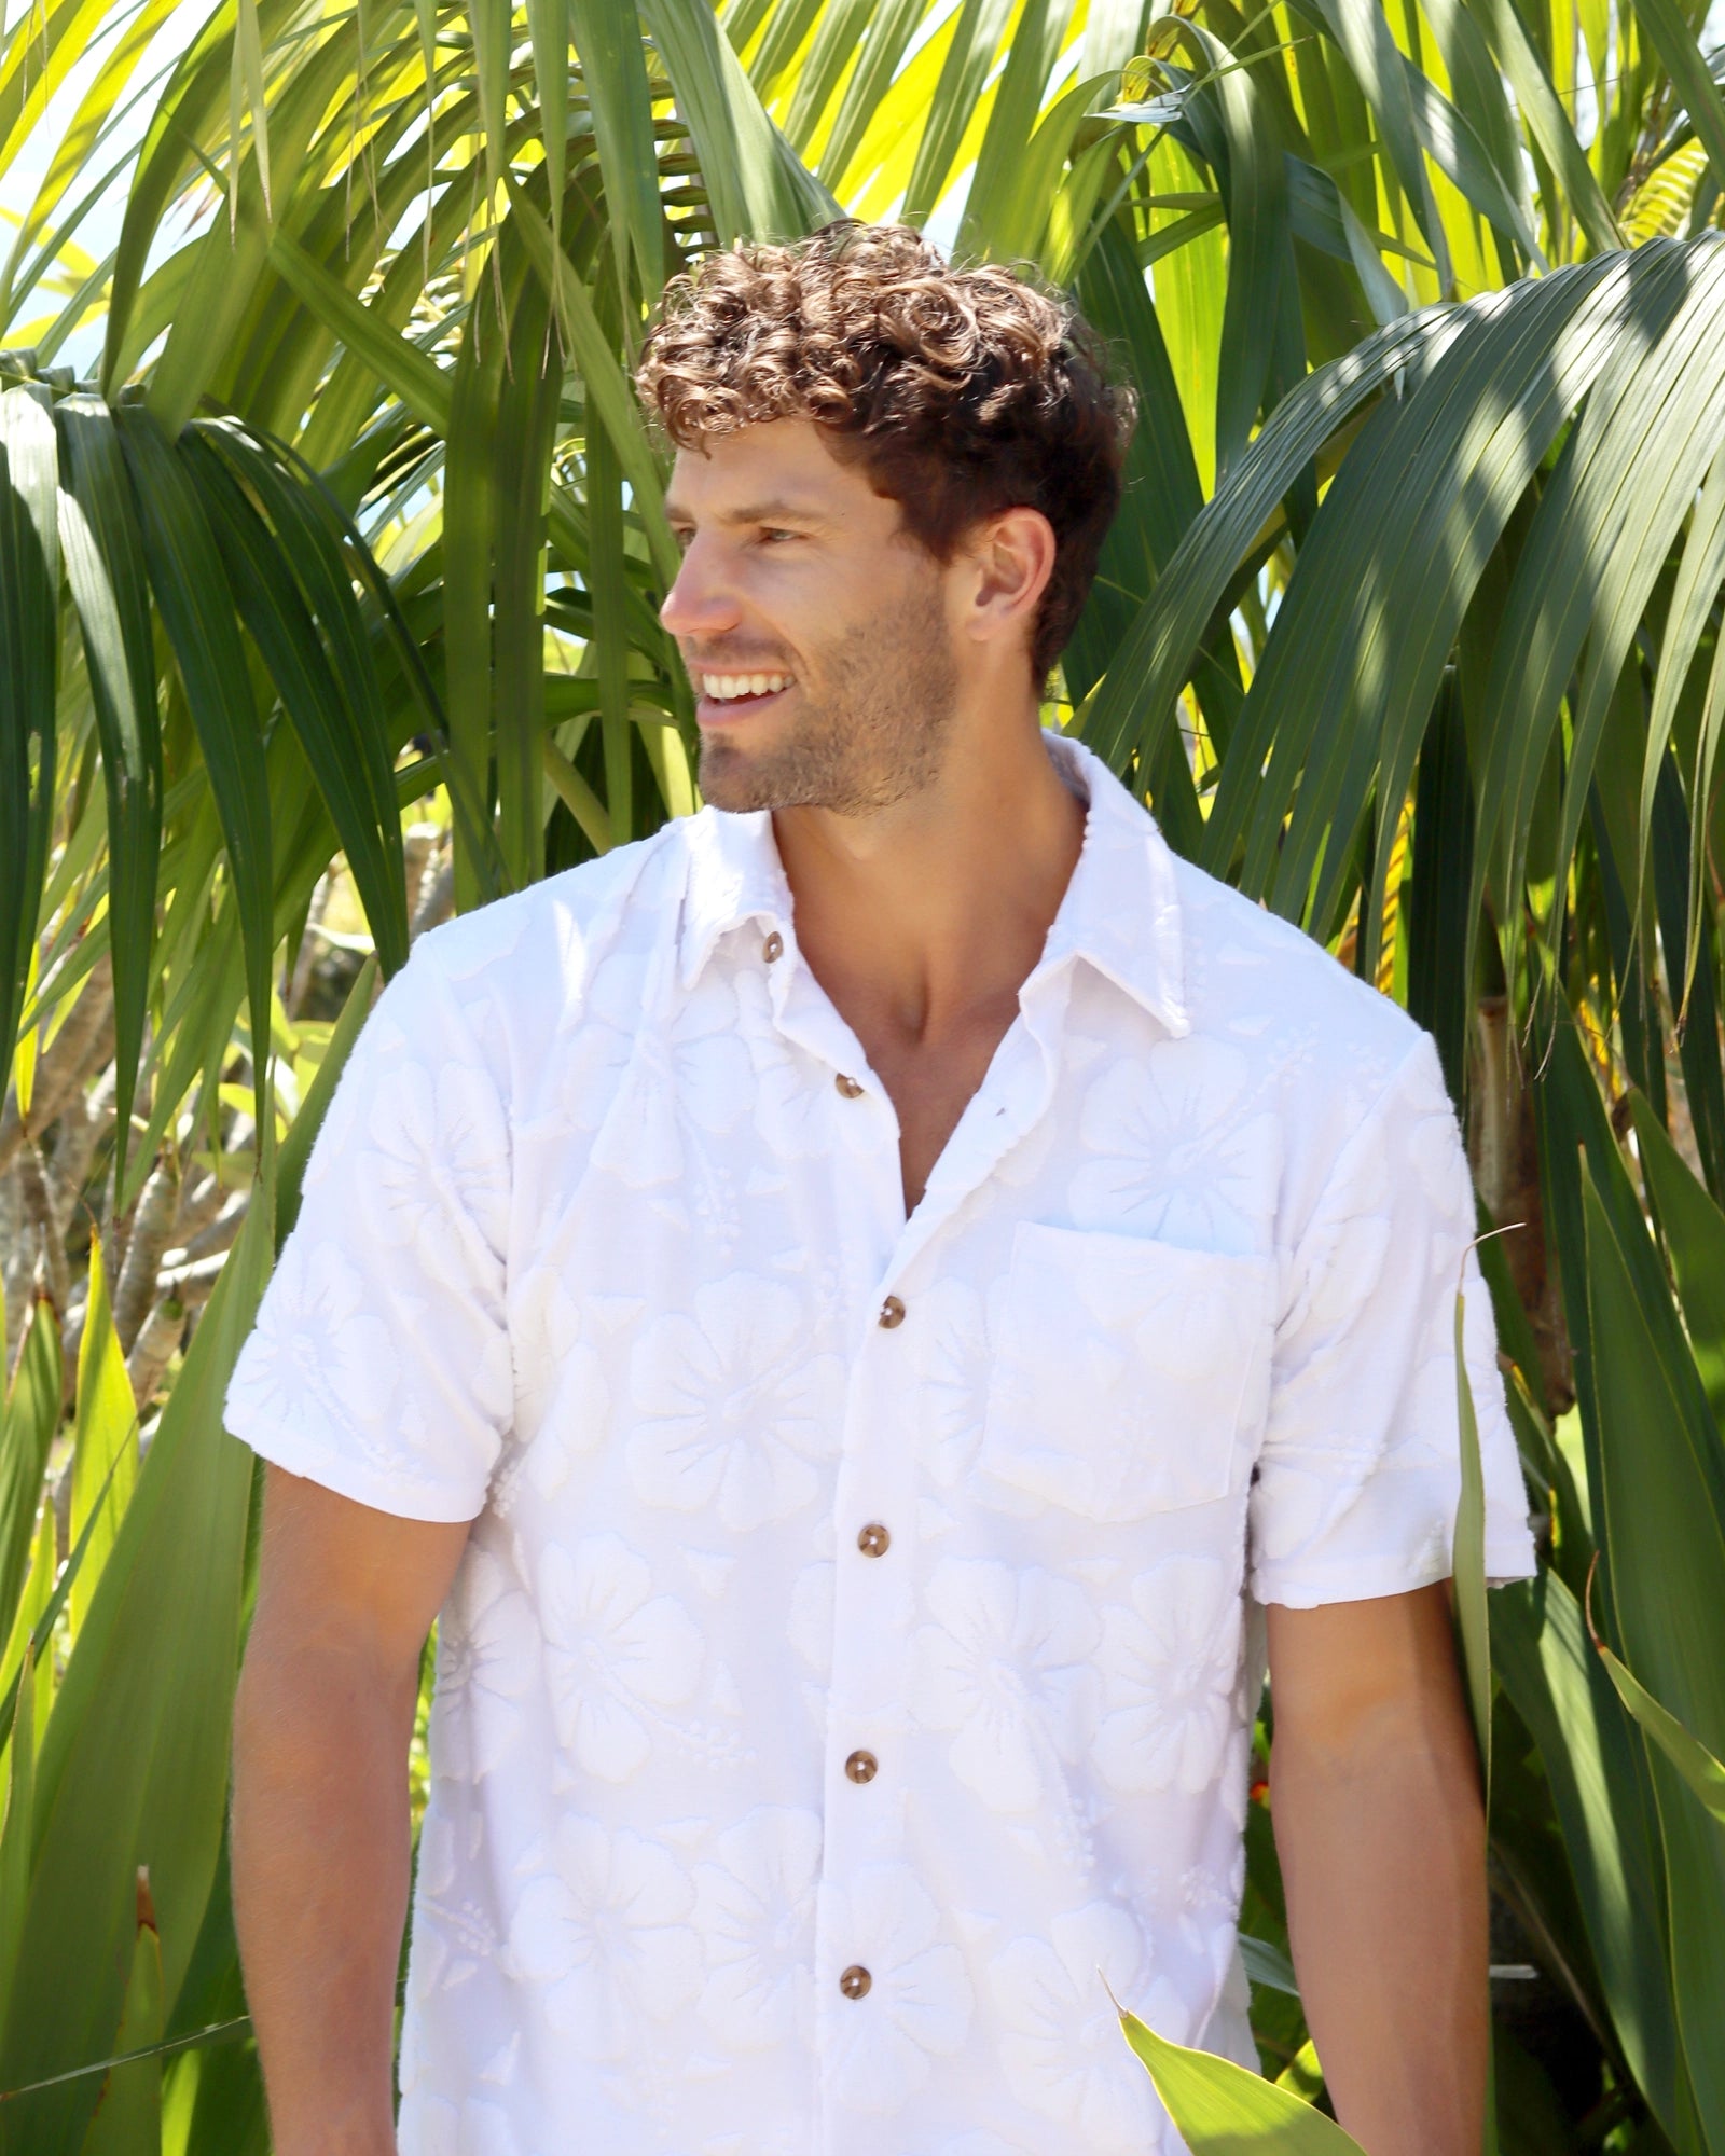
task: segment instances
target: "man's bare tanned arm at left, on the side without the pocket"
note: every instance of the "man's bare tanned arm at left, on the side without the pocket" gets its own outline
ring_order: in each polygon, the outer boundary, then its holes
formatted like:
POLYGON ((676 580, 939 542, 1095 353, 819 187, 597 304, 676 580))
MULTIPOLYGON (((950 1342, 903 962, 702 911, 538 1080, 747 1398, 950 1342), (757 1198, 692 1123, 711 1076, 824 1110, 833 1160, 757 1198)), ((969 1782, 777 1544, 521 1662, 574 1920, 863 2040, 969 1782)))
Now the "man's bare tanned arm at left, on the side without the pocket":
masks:
POLYGON ((392 2156, 418 1660, 468 1539, 267 1470, 233 1910, 276 2156, 392 2156))

